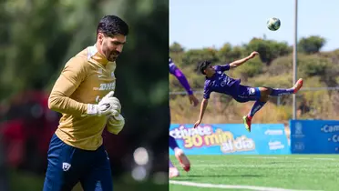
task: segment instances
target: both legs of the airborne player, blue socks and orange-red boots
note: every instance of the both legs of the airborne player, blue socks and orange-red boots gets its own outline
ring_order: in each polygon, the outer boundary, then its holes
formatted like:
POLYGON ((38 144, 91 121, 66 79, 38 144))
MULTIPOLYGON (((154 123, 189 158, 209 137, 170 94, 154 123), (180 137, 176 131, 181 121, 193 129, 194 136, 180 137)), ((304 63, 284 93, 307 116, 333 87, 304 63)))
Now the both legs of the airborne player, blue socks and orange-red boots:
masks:
POLYGON ((251 111, 247 116, 243 116, 242 120, 246 129, 251 132, 252 117, 257 113, 262 106, 266 104, 269 99, 269 96, 281 96, 281 95, 292 95, 296 94, 300 88, 303 86, 303 78, 300 78, 292 88, 281 89, 281 88, 271 88, 271 87, 259 87, 260 99, 257 100, 252 106, 251 111))

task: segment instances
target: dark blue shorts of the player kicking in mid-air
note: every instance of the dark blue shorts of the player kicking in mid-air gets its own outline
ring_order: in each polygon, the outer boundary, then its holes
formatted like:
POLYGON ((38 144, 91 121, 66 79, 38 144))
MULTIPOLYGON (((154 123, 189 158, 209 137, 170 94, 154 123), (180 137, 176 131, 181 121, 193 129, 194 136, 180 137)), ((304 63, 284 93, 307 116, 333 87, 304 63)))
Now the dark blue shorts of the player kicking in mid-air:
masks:
POLYGON ((237 102, 256 101, 261 97, 259 87, 251 87, 246 85, 239 85, 237 92, 232 95, 237 102))

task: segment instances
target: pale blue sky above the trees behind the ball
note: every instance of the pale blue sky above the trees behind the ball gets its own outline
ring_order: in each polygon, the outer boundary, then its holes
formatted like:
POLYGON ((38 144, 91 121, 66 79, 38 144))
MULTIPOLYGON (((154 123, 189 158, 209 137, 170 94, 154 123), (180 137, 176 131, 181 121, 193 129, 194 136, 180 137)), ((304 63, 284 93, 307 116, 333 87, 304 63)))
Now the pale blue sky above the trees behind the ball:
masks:
MULTIPOLYGON (((339 0, 299 0, 298 39, 321 35, 322 51, 339 48, 339 0)), ((294 0, 170 0, 170 45, 185 49, 242 45, 252 37, 293 45, 294 0), (277 17, 282 25, 270 31, 266 22, 277 17)))

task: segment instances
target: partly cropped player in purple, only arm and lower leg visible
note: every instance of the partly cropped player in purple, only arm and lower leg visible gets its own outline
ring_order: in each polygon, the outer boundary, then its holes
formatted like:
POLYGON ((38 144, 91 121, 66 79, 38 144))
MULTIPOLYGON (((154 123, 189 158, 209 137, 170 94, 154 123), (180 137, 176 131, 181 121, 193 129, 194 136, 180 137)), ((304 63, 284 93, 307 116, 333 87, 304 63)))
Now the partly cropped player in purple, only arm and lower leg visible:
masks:
MULTIPOLYGON (((190 88, 190 84, 186 78, 186 76, 181 72, 181 70, 172 62, 170 58, 170 74, 174 75, 180 82, 180 84, 186 89, 187 93, 189 94, 190 104, 193 106, 198 106, 199 100, 195 95, 193 95, 193 91, 190 88)), ((184 152, 178 146, 175 138, 170 136, 170 148, 174 151, 175 156, 180 162, 180 166, 185 171, 190 171, 190 160, 187 156, 185 156, 184 152)), ((173 166, 172 162, 170 161, 170 177, 180 176, 178 169, 173 166)))

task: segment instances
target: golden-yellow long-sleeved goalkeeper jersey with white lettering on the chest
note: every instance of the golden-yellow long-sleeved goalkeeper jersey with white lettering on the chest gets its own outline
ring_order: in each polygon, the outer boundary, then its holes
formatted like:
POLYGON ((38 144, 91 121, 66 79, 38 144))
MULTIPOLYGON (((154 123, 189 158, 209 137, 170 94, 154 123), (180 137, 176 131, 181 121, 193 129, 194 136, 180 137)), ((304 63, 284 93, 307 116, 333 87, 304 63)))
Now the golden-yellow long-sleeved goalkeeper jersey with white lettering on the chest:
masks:
POLYGON ((96 150, 102 145, 107 116, 84 116, 87 104, 98 104, 114 91, 115 62, 98 52, 95 45, 69 59, 48 99, 50 109, 62 114, 56 136, 69 146, 96 150))

